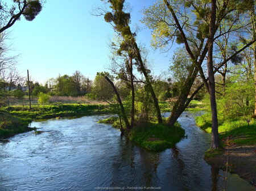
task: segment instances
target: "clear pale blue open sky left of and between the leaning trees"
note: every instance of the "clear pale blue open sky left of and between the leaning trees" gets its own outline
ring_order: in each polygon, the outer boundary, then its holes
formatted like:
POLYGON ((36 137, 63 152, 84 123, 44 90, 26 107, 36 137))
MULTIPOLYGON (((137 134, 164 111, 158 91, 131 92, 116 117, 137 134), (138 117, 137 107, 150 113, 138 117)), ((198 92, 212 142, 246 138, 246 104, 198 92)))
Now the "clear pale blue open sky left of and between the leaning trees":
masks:
MULTIPOLYGON (((137 24, 142 31, 138 42, 149 50, 152 71, 158 75, 168 70, 171 53, 160 53, 150 47, 151 32, 139 21, 141 10, 155 0, 127 0, 132 8, 131 28, 137 24)), ((109 65, 109 39, 114 30, 103 16, 93 16, 92 10, 102 6, 100 0, 47 0, 41 13, 32 22, 22 18, 10 31, 11 53, 18 55, 18 69, 42 84, 59 74, 72 75, 79 70, 94 79, 97 72, 109 65)))

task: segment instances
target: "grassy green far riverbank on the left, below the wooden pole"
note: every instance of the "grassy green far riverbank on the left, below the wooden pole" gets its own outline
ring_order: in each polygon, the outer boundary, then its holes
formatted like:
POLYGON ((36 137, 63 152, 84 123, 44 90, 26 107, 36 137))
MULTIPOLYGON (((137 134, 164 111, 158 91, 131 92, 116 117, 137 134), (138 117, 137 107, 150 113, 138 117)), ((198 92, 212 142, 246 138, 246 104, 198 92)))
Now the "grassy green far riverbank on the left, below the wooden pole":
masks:
POLYGON ((0 139, 34 130, 28 124, 34 119, 50 119, 60 117, 81 117, 110 113, 108 105, 102 104, 62 104, 9 106, 0 110, 0 139))

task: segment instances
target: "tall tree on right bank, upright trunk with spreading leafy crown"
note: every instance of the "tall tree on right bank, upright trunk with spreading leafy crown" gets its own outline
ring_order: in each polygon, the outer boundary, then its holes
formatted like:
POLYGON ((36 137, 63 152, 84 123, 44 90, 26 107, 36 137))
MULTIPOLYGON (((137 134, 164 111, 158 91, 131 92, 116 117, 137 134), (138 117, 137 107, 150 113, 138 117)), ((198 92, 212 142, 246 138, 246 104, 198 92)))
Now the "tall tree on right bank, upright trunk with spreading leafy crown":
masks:
MULTIPOLYGON (((199 72, 204 82, 212 103, 212 148, 219 146, 214 73, 227 61, 236 57, 243 49, 253 44, 255 39, 248 41, 246 45, 232 55, 229 55, 228 59, 222 61, 217 66, 214 65, 213 62, 213 49, 216 47, 216 39, 220 38, 220 36, 245 30, 247 24, 250 22, 246 20, 247 23, 241 23, 240 20, 245 18, 247 9, 245 3, 251 2, 252 1, 222 1, 216 4, 215 0, 209 2, 163 0, 159 1, 158 5, 154 6, 154 9, 152 9, 152 7, 147 9, 145 21, 147 26, 154 29, 156 32, 153 35, 156 44, 160 43, 160 45, 165 46, 169 41, 174 42, 174 40, 176 40, 176 43, 184 45, 194 65, 194 68, 191 70, 191 75, 189 73, 187 78, 188 81, 186 84, 188 84, 188 86, 186 85, 186 94, 188 95, 187 92, 191 90, 191 84, 193 84, 197 72, 199 72), (221 30, 223 27, 228 29, 223 31, 221 30), (202 67, 204 63, 207 64, 207 73, 202 67), (193 71, 196 70, 197 72, 193 73, 193 71)), ((246 35, 245 33, 243 34, 246 35)), ((235 38, 232 40, 236 41, 235 38)), ((203 85, 200 85, 199 88, 191 94, 191 97, 193 98, 202 87, 203 85)), ((184 99, 187 99, 187 95, 185 95, 184 99)), ((184 99, 180 102, 181 111, 184 110, 184 106, 187 106, 189 101, 192 100, 189 98, 187 102, 184 102, 184 99)))

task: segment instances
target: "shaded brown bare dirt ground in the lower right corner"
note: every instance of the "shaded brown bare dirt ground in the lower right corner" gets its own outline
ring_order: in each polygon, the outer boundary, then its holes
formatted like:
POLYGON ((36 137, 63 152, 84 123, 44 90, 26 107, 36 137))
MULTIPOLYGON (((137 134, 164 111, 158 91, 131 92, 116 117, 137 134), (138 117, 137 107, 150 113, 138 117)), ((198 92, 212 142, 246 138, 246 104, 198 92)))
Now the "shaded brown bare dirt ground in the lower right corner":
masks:
MULTIPOLYGON (((228 151, 224 148, 224 151, 228 151)), ((251 146, 231 146, 229 148, 229 164, 231 172, 236 173, 241 178, 256 187, 256 144, 251 146)), ((225 168, 227 156, 224 154, 207 159, 208 163, 214 163, 219 168, 225 168)))

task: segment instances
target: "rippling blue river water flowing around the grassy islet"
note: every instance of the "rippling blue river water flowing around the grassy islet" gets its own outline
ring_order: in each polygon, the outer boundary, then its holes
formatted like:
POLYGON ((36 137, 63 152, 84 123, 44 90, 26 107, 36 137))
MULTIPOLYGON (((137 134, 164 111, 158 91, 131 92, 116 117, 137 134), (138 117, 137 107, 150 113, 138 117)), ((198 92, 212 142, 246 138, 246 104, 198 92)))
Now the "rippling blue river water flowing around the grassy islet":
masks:
MULTIPOLYGON (((104 117, 32 122, 42 134, 0 144, 0 190, 221 190, 223 172, 203 159, 210 135, 183 115, 187 138, 160 153, 121 139, 117 129, 97 123, 104 117)), ((228 190, 255 189, 229 175, 228 190)))

